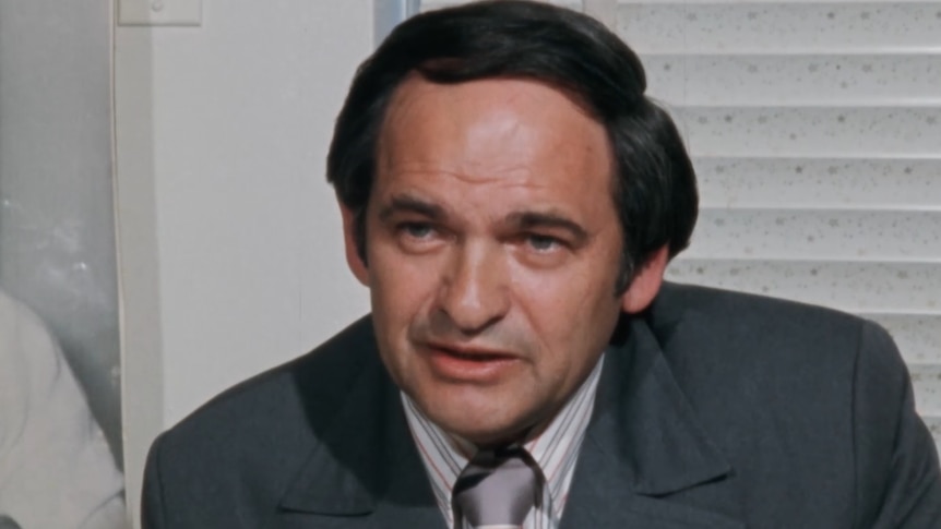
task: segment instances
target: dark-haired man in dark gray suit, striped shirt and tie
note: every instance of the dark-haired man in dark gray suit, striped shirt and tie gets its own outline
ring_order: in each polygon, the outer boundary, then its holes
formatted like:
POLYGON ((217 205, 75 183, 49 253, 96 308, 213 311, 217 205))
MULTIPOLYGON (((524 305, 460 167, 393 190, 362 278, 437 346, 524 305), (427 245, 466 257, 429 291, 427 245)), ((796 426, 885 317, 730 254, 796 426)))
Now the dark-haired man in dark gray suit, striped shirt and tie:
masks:
POLYGON ((147 528, 931 528, 933 443, 886 334, 663 285, 692 166, 600 24, 416 16, 327 160, 372 314, 162 435, 147 528))

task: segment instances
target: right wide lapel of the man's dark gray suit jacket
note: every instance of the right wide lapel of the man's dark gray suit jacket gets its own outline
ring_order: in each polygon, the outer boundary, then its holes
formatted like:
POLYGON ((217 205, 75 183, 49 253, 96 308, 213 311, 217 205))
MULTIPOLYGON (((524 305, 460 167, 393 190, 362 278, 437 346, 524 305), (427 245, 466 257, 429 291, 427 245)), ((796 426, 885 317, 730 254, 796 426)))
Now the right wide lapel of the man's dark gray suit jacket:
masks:
POLYGON ((609 351, 562 529, 741 528, 731 466, 710 442, 645 322, 609 351))

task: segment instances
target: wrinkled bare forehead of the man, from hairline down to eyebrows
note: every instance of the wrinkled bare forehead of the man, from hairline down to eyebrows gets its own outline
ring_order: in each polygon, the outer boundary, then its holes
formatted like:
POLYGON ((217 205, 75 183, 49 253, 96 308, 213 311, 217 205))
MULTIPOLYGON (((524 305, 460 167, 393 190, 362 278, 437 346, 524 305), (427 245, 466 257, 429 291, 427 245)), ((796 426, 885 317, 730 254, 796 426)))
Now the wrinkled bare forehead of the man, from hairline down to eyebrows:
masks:
POLYGON ((384 127, 376 206, 410 196, 453 218, 553 211, 577 223, 612 207, 606 131, 564 94, 527 80, 413 83, 384 127))

